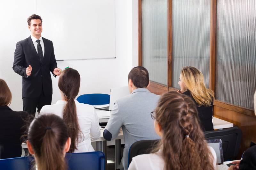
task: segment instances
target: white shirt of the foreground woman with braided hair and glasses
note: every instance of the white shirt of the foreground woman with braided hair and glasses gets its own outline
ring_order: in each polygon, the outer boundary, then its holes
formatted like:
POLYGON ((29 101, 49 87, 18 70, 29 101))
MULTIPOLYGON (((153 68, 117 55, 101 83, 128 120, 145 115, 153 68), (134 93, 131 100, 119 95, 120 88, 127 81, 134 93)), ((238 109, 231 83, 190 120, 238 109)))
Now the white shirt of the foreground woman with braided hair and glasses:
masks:
MULTIPOLYGON (((211 146, 208 146, 213 156, 213 167, 216 167, 217 156, 211 146)), ((132 158, 128 170, 164 170, 164 159, 161 151, 150 154, 142 154, 132 158)))

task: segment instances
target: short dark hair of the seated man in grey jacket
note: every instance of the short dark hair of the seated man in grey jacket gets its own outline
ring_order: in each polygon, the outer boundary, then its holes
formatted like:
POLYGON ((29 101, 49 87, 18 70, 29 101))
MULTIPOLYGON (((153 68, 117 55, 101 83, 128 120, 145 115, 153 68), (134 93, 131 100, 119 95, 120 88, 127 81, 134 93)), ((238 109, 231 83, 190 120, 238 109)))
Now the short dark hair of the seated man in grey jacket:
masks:
POLYGON ((135 87, 146 88, 149 82, 148 70, 141 66, 134 67, 128 74, 128 81, 130 79, 135 87))

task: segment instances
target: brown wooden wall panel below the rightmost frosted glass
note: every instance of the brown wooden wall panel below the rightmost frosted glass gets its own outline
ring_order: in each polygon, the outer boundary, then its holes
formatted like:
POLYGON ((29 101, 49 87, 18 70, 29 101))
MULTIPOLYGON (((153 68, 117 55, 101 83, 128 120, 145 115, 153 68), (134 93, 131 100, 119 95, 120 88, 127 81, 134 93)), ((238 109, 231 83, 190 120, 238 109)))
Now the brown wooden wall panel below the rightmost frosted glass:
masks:
POLYGON ((234 126, 238 126, 242 130, 242 140, 237 158, 240 159, 243 152, 249 148, 250 142, 256 142, 256 117, 244 115, 218 106, 214 106, 213 111, 214 117, 232 122, 234 126))

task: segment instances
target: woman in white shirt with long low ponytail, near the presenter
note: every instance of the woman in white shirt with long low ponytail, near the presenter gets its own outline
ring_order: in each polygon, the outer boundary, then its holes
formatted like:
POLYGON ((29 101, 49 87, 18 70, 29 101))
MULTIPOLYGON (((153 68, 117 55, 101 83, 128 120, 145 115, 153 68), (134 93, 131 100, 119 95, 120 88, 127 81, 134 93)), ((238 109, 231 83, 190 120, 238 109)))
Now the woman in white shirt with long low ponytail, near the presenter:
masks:
POLYGON ((54 105, 42 107, 41 114, 52 113, 63 118, 71 137, 69 152, 92 152, 91 139, 100 137, 99 118, 94 107, 75 100, 80 87, 78 71, 65 69, 59 78, 61 100, 54 105))

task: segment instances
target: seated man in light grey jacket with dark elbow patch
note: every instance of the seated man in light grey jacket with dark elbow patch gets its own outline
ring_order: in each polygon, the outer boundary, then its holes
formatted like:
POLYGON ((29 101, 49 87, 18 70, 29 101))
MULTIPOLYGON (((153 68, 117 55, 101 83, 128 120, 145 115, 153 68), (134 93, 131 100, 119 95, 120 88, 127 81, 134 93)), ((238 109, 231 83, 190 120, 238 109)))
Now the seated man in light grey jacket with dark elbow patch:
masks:
POLYGON ((127 169, 130 146, 139 140, 159 139, 152 126, 150 113, 156 107, 160 96, 149 92, 148 70, 134 67, 129 75, 130 95, 116 100, 108 124, 103 132, 106 140, 115 139, 120 128, 123 129, 125 146, 120 169, 127 169), (123 167, 122 167, 123 166, 123 167))

